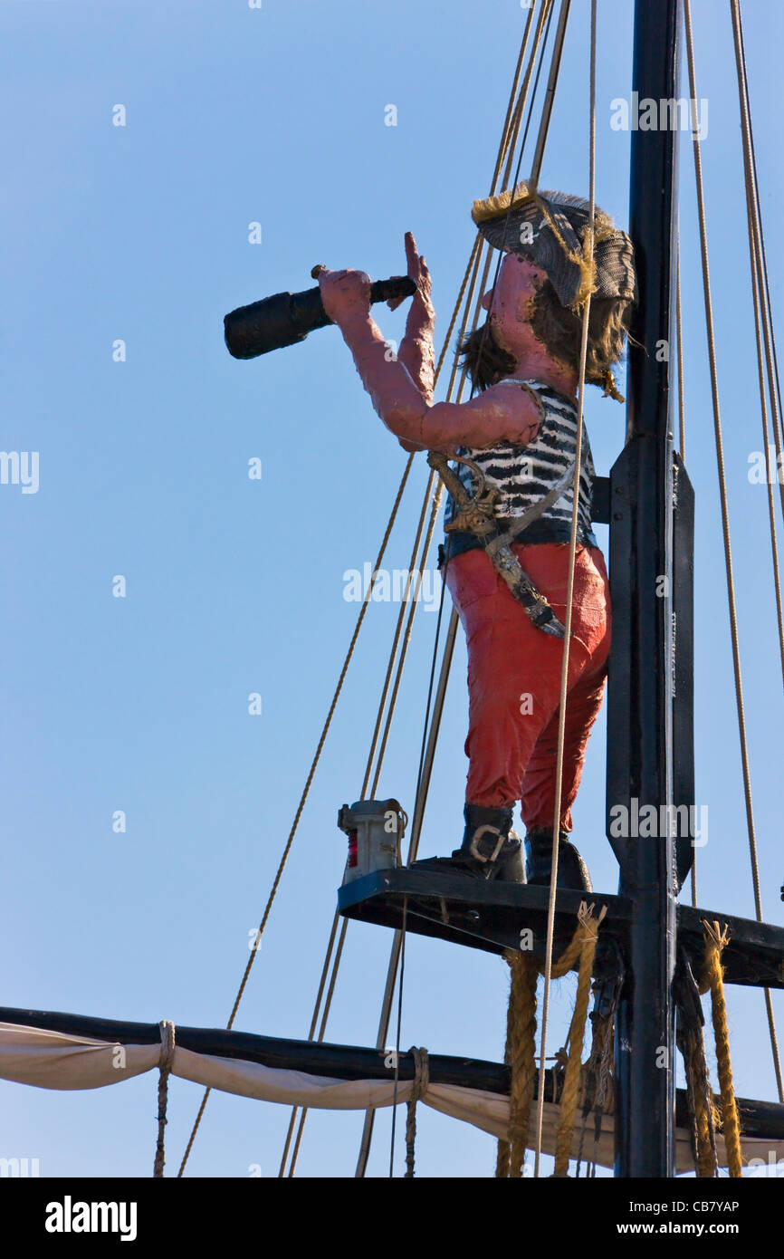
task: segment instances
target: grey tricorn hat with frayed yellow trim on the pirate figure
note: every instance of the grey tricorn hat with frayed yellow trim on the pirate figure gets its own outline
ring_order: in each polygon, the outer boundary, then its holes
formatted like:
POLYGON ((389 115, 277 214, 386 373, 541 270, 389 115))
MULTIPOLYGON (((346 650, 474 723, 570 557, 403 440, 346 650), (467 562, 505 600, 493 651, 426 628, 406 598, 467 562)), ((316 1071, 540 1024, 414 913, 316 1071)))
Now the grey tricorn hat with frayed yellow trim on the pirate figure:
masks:
POLYGON ((561 306, 576 308, 588 295, 637 300, 630 238, 594 206, 594 256, 583 253, 590 205, 568 193, 513 190, 474 201, 471 217, 496 249, 510 249, 547 273, 561 306))

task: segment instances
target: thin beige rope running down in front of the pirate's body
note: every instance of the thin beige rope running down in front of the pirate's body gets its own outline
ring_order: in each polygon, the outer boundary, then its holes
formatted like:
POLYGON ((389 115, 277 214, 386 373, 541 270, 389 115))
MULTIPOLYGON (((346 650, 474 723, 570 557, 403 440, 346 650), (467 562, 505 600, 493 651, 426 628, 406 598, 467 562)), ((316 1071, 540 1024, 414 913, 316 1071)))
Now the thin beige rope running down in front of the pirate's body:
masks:
MULTIPOLYGON (((590 4, 590 86, 589 86, 589 99, 590 99, 590 123, 589 123, 589 220, 588 229, 585 233, 583 253, 586 259, 586 264, 593 268, 594 257, 594 218, 595 218, 595 175, 596 175, 596 0, 591 0, 590 4)), ((550 874, 550 894, 547 898, 547 940, 545 946, 545 985, 542 993, 542 1016, 541 1016, 541 1041, 540 1041, 540 1060, 539 1060, 539 1104, 536 1110, 536 1142, 535 1142, 535 1160, 534 1160, 534 1176, 539 1176, 539 1165, 541 1160, 541 1133, 542 1133, 542 1121, 545 1113, 545 1055, 547 1049, 547 1015, 550 1006, 550 980, 552 977, 552 935, 555 928, 555 893, 557 884, 557 846, 559 846, 559 831, 560 831, 560 812, 561 812, 561 778, 564 772, 564 740, 566 729, 566 684, 569 680, 569 643, 571 635, 571 613, 573 613, 573 597, 574 597, 574 565, 575 565, 575 553, 576 553, 576 539, 578 539, 578 512, 579 512, 579 499, 580 499, 580 472, 583 463, 583 408, 585 402, 585 360, 588 356, 588 320, 590 315, 590 290, 585 298, 585 305, 583 307, 583 329, 580 336, 580 366, 578 373, 578 431, 575 441, 575 462, 574 462, 574 482, 573 482, 573 504, 571 504, 571 534, 569 539, 569 582, 566 587, 566 616, 564 619, 565 635, 564 635, 564 655, 561 663, 561 694, 559 704, 559 723, 557 723, 557 754, 556 754, 556 768, 555 768, 555 806, 552 816, 552 856, 551 856, 551 874, 550 874)))

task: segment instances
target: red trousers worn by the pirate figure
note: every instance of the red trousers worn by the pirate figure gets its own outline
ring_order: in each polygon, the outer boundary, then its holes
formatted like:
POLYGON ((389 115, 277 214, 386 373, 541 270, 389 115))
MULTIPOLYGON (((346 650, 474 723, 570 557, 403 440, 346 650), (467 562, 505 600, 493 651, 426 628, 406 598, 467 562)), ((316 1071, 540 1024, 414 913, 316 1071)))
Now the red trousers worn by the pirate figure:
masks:
MULTIPOLYGON (((555 614, 566 619, 569 545, 512 548, 555 614)), ((526 827, 551 827, 564 640, 537 630, 483 550, 449 560, 445 582, 468 642, 471 805, 521 801, 526 827)), ((607 569, 595 546, 578 546, 569 652, 560 828, 571 830, 590 729, 604 694, 610 648, 607 569)))

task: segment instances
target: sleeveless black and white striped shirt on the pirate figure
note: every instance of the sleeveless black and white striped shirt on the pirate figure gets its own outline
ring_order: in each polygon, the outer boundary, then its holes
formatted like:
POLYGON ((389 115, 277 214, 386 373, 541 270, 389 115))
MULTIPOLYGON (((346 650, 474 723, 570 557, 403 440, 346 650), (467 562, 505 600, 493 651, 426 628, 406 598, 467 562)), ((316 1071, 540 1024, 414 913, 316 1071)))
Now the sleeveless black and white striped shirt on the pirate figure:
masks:
MULTIPOLYGON (((500 381, 510 388, 526 385, 539 397, 544 417, 536 437, 527 446, 503 441, 486 449, 458 447, 457 453, 472 460, 483 472, 487 483, 498 491, 496 516, 502 529, 515 534, 515 519, 522 516, 529 507, 541 501, 554 486, 574 468, 578 436, 576 403, 556 393, 541 380, 507 379, 500 381)), ((457 465, 457 472, 469 494, 473 494, 473 473, 464 463, 457 465)), ((585 427, 583 428, 583 449, 580 467, 580 499, 578 505, 578 543, 595 546, 596 539, 591 528, 591 496, 594 480, 594 461, 585 427)), ((522 543, 568 543, 571 538, 573 478, 569 477, 564 492, 547 510, 520 535, 522 543)), ((447 522, 452 519, 453 500, 447 502, 447 522)), ((469 550, 481 545, 473 534, 453 533, 449 554, 469 550)))

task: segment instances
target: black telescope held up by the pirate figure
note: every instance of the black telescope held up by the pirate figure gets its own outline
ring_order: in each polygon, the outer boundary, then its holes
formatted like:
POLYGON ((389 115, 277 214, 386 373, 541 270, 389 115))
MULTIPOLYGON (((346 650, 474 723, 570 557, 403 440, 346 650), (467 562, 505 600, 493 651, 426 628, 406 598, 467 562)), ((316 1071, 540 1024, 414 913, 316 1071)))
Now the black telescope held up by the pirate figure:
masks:
MULTIPOLYGON (((316 278, 322 267, 313 267, 316 278)), ((408 276, 376 279, 370 288, 371 302, 386 302, 390 297, 413 297, 417 285, 408 276)), ((227 349, 235 359, 258 359, 259 354, 282 350, 287 345, 305 341, 316 327, 326 327, 332 320, 323 308, 321 290, 306 288, 302 293, 273 293, 250 306, 238 306, 224 316, 223 330, 227 349)))

